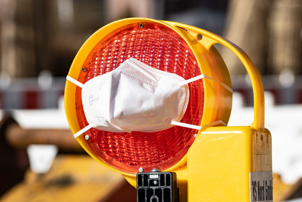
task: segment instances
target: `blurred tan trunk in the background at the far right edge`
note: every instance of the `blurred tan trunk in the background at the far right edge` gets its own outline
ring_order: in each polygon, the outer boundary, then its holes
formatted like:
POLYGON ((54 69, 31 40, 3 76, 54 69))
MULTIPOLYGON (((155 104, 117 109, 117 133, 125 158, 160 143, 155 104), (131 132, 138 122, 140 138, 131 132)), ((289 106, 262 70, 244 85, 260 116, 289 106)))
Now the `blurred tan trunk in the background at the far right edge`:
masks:
POLYGON ((278 0, 268 18, 268 68, 302 73, 302 1, 278 0))

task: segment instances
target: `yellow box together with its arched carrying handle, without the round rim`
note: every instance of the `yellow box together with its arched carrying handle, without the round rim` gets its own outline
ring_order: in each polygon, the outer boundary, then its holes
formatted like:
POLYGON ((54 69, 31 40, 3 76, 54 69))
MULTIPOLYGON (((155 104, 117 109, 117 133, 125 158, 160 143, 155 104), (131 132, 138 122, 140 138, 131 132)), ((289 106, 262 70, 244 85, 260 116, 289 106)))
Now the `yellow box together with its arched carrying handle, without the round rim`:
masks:
MULTIPOLYGON (((202 35, 199 43, 206 50, 218 43, 233 51, 249 74, 254 94, 252 124, 208 127, 191 145, 187 153, 187 200, 249 201, 250 172, 272 171, 271 134, 264 127, 264 91, 259 72, 246 53, 230 41, 199 28, 187 27, 187 31, 202 35)), ((186 200, 182 194, 180 198, 186 200)))

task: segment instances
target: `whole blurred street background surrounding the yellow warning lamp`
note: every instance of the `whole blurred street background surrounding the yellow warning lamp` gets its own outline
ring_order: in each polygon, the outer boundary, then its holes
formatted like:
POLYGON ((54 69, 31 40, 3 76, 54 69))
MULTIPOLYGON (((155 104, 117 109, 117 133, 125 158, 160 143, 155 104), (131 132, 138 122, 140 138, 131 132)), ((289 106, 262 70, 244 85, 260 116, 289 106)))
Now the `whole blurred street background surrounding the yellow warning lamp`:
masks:
MULTIPOLYGON (((66 75, 85 40, 128 17, 200 27, 250 56, 265 89, 274 201, 302 197, 301 0, 0 0, 0 201, 70 201, 66 195, 75 195, 73 201, 119 201, 117 191, 128 193, 124 201, 135 200, 133 187, 73 139, 62 100, 66 75), (44 171, 29 168, 33 144, 50 146, 54 161, 44 171), (88 192, 94 193, 89 200, 88 192)), ((246 70, 229 50, 217 49, 235 91, 228 125, 249 125, 253 94, 246 70)))

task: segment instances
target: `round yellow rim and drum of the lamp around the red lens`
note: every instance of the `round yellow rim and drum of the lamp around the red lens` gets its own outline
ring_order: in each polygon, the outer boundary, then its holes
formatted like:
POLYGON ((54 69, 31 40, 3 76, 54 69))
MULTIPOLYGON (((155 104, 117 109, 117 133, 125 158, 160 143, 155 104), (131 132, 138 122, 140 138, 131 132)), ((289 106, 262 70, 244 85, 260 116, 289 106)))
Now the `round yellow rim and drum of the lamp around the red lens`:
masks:
MULTIPOLYGON (((87 58, 88 54, 92 51, 95 45, 105 36, 110 34, 112 30, 119 27, 132 24, 132 23, 158 23, 164 26, 171 28, 173 31, 178 33, 189 45, 194 56, 198 62, 198 65, 201 69, 201 73, 205 74, 216 81, 224 83, 231 87, 230 75, 224 64, 223 59, 216 50, 214 46, 209 47, 209 49, 204 48, 200 43, 199 32, 188 31, 186 25, 176 24, 173 22, 157 21, 148 18, 127 18, 122 19, 116 22, 112 22, 108 25, 105 25, 98 31, 96 31, 88 40, 82 45, 78 51, 74 61, 72 62, 71 68, 68 75, 72 78, 78 78, 80 71, 82 71, 82 64, 87 58)), ((227 91, 217 82, 214 82, 210 79, 203 79, 204 84, 204 111, 203 117, 201 118, 201 125, 206 125, 211 122, 222 120, 227 123, 230 117, 230 111, 232 106, 232 93, 227 91)), ((72 132, 77 132, 79 128, 79 123, 76 115, 76 106, 75 106, 75 93, 76 85, 71 82, 66 82, 65 87, 65 111, 67 120, 69 122, 72 132)), ((92 149, 87 144, 85 138, 80 135, 77 137, 77 140, 81 146, 90 154, 95 160, 99 161, 106 167, 111 168, 114 171, 120 172, 125 175, 126 178, 130 181, 133 186, 136 186, 135 174, 126 173, 119 171, 115 168, 112 168, 102 161, 97 155, 94 154, 92 149)), ((177 164, 173 165, 168 169, 168 171, 182 170, 181 168, 186 166, 186 156, 183 157, 177 164)))

